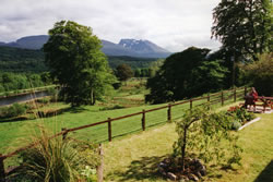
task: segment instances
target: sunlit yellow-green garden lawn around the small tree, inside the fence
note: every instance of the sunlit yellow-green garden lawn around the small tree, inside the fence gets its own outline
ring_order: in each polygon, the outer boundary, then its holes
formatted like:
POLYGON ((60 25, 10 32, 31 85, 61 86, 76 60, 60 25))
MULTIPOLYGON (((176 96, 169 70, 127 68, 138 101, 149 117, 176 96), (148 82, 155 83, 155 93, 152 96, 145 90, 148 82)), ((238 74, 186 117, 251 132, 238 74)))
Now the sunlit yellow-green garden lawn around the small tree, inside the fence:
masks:
MULTIPOLYGON (((239 131, 242 166, 237 170, 211 168, 205 181, 273 181, 273 113, 258 117, 262 119, 239 131)), ((176 137, 175 124, 168 123, 105 144, 106 181, 165 181, 156 166, 171 154, 176 137)))

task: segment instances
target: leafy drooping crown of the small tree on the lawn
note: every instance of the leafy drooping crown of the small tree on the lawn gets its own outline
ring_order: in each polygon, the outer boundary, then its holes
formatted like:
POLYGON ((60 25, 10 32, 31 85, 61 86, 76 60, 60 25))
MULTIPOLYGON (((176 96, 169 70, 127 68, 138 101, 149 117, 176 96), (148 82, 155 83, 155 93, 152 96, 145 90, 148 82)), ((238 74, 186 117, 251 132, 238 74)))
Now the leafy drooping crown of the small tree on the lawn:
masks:
POLYGON ((185 157, 198 157, 206 163, 239 163, 241 149, 237 145, 238 136, 229 131, 232 124, 233 117, 213 112, 207 106, 187 111, 182 120, 176 121, 178 141, 174 154, 180 155, 183 161, 185 157))

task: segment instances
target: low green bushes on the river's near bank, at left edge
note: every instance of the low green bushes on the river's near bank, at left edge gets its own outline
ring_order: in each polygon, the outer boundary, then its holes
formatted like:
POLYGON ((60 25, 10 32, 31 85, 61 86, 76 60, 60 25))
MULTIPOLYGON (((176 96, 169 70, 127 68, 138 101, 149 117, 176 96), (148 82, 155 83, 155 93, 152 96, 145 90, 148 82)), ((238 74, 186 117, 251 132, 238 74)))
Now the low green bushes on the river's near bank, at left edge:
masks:
POLYGON ((25 114, 27 110, 26 105, 13 104, 10 107, 0 108, 0 118, 14 118, 25 114))

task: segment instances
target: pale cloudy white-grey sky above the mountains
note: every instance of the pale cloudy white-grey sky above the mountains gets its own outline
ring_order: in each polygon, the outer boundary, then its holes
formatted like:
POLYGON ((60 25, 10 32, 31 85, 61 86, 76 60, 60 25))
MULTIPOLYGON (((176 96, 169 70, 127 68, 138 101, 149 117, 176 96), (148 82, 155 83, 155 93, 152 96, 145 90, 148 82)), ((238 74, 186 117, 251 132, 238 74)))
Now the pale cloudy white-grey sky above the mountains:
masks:
POLYGON ((61 20, 90 26, 100 39, 147 39, 176 52, 216 50, 212 10, 219 0, 0 0, 0 41, 46 35, 61 20))

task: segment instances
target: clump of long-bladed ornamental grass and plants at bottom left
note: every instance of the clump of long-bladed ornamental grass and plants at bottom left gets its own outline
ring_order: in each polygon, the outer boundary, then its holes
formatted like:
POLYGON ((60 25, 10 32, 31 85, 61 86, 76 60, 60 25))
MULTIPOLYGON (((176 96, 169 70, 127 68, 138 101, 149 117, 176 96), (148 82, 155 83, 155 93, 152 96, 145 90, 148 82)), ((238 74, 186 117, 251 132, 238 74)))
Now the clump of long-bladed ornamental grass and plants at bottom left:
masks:
POLYGON ((86 166, 98 165, 95 145, 50 136, 43 126, 32 136, 36 145, 20 153, 20 168, 9 177, 12 181, 75 182, 86 178, 82 174, 86 166))

